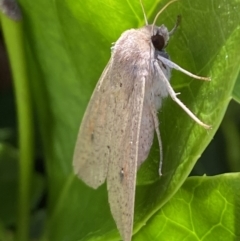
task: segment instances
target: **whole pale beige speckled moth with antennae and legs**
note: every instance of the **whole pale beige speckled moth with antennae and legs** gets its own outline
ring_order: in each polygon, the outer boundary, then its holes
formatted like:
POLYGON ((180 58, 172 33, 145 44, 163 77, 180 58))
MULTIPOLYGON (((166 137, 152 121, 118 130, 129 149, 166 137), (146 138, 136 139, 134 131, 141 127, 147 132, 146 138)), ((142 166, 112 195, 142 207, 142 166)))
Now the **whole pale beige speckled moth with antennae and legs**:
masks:
POLYGON ((107 180, 111 213, 124 241, 132 237, 136 174, 148 157, 154 131, 160 149, 161 175, 163 157, 157 113, 162 100, 169 95, 196 123, 210 128, 178 99, 169 83, 171 69, 210 80, 182 69, 164 50, 179 19, 171 31, 164 25, 155 26, 155 22, 175 1, 157 14, 153 25, 148 25, 144 13, 146 26, 125 31, 116 41, 77 137, 74 172, 92 188, 107 180))

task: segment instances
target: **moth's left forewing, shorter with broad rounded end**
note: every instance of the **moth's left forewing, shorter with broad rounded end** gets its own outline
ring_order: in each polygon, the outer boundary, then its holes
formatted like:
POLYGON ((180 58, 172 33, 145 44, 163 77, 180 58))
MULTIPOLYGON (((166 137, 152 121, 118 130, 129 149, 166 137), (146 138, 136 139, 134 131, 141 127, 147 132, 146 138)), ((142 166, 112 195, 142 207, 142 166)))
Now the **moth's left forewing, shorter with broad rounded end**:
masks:
POLYGON ((110 139, 111 133, 105 125, 108 123, 112 111, 106 97, 109 94, 110 62, 111 60, 102 73, 88 103, 79 129, 73 157, 75 174, 93 188, 104 183, 108 170, 107 141, 110 139), (105 138, 102 138, 103 136, 105 138))

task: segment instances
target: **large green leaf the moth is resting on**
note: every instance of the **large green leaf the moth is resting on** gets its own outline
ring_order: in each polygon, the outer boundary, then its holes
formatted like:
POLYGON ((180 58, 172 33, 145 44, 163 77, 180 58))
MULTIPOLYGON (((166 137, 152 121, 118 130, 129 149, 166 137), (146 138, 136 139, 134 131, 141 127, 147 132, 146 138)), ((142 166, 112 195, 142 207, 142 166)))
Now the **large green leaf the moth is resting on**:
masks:
MULTIPOLYGON (((152 20, 166 1, 144 1, 152 20)), ((129 28, 144 25, 137 0, 20 0, 32 95, 41 129, 49 181, 49 240, 118 240, 106 187, 92 190, 73 176, 72 155, 81 118, 110 57, 111 43, 129 28)), ((159 18, 171 29, 172 61, 210 83, 173 71, 179 98, 212 129, 195 124, 173 101, 160 110, 163 176, 154 143, 138 175, 135 232, 184 182, 216 132, 239 72, 239 0, 181 0, 159 18)), ((124 150, 123 150, 124 151, 124 150)))

